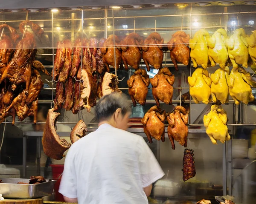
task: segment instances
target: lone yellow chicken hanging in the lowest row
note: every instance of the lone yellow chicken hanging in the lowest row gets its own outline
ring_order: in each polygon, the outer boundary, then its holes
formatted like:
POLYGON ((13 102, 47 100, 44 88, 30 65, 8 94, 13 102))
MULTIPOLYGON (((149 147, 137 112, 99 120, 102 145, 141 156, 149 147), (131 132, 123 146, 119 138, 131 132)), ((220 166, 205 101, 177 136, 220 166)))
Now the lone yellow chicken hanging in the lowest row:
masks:
POLYGON ((223 144, 230 140, 227 128, 227 113, 221 106, 211 106, 211 111, 204 115, 204 126, 213 144, 217 144, 217 140, 223 144))

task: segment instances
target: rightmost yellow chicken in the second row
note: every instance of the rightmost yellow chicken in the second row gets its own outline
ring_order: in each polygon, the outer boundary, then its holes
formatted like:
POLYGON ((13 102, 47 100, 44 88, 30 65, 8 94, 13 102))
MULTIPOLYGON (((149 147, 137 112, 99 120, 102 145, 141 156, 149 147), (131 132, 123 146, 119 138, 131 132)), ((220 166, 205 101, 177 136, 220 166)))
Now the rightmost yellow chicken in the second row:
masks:
POLYGON ((246 80, 247 72, 241 66, 239 66, 238 69, 233 68, 230 75, 227 76, 227 84, 230 96, 233 98, 236 105, 239 105, 240 101, 246 105, 250 101, 254 101, 252 89, 246 80))

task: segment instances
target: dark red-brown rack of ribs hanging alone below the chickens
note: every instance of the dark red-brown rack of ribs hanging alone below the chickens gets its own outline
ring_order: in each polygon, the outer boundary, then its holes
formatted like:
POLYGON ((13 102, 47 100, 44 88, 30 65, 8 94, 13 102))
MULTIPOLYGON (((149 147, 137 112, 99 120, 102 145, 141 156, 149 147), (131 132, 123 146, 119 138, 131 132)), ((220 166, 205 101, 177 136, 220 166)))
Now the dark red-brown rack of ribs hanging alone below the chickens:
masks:
POLYGON ((193 149, 185 149, 183 156, 183 181, 195 176, 195 161, 193 149))

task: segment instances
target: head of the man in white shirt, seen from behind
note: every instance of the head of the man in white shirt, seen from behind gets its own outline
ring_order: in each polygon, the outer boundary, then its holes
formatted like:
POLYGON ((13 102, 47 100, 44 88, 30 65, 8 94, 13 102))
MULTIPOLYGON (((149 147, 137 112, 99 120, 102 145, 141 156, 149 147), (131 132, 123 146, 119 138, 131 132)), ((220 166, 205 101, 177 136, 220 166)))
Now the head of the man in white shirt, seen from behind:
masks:
POLYGON ((96 116, 99 124, 109 123, 119 129, 127 129, 131 115, 131 104, 128 97, 121 92, 103 96, 96 105, 96 116))

